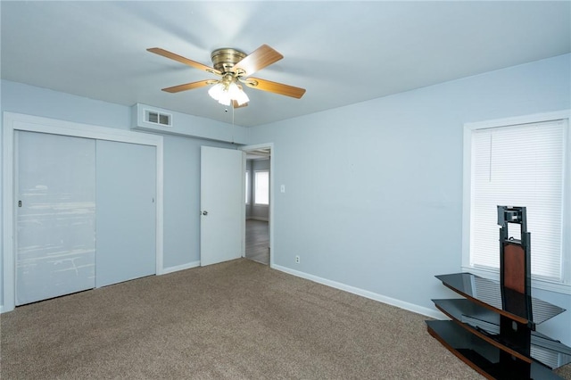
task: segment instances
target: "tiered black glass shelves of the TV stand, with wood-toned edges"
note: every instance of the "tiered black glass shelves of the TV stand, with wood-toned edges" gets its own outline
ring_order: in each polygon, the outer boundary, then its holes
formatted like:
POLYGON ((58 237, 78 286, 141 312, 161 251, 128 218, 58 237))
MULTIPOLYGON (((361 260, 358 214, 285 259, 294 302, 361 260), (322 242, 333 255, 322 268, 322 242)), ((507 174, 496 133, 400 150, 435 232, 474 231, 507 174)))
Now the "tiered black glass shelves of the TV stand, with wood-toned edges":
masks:
POLYGON ((459 359, 489 379, 561 378, 551 368, 571 362, 571 348, 535 326, 564 309, 470 273, 436 278, 465 298, 433 300, 451 320, 428 320, 427 330, 459 359))

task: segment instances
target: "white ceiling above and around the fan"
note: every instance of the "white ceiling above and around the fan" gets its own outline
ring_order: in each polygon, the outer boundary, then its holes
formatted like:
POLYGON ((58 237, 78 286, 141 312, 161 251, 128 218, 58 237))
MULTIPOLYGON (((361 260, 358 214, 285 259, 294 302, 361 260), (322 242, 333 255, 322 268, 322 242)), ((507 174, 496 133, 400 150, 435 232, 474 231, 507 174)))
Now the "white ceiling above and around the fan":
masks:
POLYGON ((302 99, 246 88, 236 125, 251 127, 571 51, 571 2, 6 2, 2 78, 106 102, 151 104, 232 122, 203 87, 211 51, 284 59, 255 77, 304 87, 302 99))

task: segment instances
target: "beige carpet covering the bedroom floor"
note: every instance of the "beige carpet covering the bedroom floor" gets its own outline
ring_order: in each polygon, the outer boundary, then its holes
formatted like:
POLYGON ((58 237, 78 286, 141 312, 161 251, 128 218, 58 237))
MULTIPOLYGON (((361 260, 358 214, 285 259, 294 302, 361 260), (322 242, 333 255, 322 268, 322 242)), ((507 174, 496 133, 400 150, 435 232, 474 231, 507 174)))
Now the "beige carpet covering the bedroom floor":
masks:
POLYGON ((234 260, 4 313, 1 377, 483 378, 425 319, 234 260))

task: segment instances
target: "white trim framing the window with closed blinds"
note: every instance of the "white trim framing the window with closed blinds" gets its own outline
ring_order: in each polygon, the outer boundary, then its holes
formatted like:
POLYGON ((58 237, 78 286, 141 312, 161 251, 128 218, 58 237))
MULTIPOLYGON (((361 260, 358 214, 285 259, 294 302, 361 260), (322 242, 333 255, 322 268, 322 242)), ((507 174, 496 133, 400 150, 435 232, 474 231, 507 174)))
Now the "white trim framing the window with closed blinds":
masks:
MULTIPOLYGON (((489 278, 492 280, 499 281, 500 275, 499 270, 494 271, 492 269, 485 269, 485 268, 474 268, 470 266, 470 222, 471 222, 471 212, 470 212, 470 204, 471 204, 471 165, 472 165, 472 145, 471 145, 471 136, 472 132, 476 129, 484 129, 484 128, 500 128, 500 127, 509 127, 509 126, 516 126, 521 124, 531 124, 537 122, 545 122, 545 121, 552 121, 552 120, 567 120, 567 125, 570 126, 569 121, 571 120, 571 110, 563 110, 558 112, 545 112, 545 113, 535 113, 532 115, 523 115, 517 116, 513 118, 505 118, 505 119, 496 119, 496 120, 485 120, 479 122, 470 122, 464 124, 464 138, 463 138, 463 167, 462 167, 462 270, 469 271, 474 273, 478 276, 489 278)), ((567 136, 567 141, 568 141, 567 136)), ((567 161, 569 159, 567 158, 567 161)), ((566 163, 567 165, 567 163, 566 163)), ((566 168, 566 175, 567 177, 571 175, 571 168, 566 168)), ((564 216, 564 226, 571 226, 571 212, 569 212, 571 204, 568 204, 569 192, 569 182, 570 179, 566 178, 566 192, 567 194, 564 197, 564 207, 567 210, 567 216, 564 216)), ((563 235, 563 269, 571 268, 571 238, 563 235), (567 241, 566 241, 567 239, 567 241)), ((532 287, 536 289, 547 290, 551 292, 563 293, 563 294, 571 294, 571 277, 563 277, 562 283, 550 282, 542 279, 532 278, 532 287)))

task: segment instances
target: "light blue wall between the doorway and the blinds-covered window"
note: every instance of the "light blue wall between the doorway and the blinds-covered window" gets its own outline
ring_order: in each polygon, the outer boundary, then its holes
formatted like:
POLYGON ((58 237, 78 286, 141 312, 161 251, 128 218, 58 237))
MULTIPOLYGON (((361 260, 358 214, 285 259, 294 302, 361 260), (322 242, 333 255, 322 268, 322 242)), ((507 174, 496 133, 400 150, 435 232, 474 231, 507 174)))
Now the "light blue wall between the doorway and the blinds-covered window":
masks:
MULTIPOLYGON (((274 144, 286 188, 274 199, 275 263, 426 308, 450 297, 434 275, 461 269, 463 124, 570 108, 570 61, 252 128, 249 144, 274 144)), ((571 344, 571 296, 537 295, 569 310, 542 329, 571 344)))

